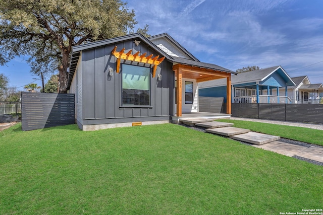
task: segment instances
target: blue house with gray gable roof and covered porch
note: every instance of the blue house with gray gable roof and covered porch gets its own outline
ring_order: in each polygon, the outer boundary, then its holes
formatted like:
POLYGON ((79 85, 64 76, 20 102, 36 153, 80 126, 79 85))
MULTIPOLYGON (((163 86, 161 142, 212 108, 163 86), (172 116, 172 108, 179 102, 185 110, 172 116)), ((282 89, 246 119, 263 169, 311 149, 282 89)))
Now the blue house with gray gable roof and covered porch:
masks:
MULTIPOLYGON (((232 76, 231 83, 232 103, 291 103, 287 96, 288 86, 295 86, 282 66, 239 73, 232 76)), ((225 84, 220 79, 203 82, 199 86, 199 96, 224 97, 224 102, 230 103, 224 91, 225 84)))

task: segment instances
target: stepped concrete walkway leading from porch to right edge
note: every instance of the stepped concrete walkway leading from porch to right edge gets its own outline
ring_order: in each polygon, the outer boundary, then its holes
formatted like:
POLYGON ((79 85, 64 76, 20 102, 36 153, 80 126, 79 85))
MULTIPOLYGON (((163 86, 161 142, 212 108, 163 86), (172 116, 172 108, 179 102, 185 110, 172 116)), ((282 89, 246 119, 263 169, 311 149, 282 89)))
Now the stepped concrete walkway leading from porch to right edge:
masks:
MULTIPOLYGON (((236 118, 231 118, 236 119, 236 118)), ((232 127, 233 123, 213 121, 207 117, 202 120, 199 118, 185 118, 179 121, 189 126, 204 127, 206 132, 218 135, 228 136, 242 142, 252 144, 253 147, 276 152, 289 157, 301 157, 312 161, 323 163, 323 148, 320 147, 304 147, 294 144, 287 144, 279 141, 281 137, 257 133, 249 129, 232 127)), ((242 120, 239 118, 239 120, 242 120)), ((303 124, 303 123, 301 123, 303 124)))

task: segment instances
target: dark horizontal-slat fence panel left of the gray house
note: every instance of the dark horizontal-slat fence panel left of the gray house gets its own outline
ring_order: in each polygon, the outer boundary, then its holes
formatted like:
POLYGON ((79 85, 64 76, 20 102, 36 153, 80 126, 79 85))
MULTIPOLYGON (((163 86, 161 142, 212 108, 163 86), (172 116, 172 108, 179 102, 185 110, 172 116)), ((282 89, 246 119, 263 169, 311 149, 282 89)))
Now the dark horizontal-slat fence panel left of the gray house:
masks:
POLYGON ((75 123, 74 94, 21 93, 22 130, 75 123))

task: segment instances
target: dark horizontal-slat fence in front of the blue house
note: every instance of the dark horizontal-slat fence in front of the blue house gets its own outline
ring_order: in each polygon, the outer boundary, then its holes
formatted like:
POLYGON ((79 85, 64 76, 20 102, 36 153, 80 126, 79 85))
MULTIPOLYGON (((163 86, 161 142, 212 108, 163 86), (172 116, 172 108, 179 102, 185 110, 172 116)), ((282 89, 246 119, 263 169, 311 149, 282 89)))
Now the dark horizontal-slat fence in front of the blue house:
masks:
POLYGON ((232 103, 231 116, 280 121, 323 123, 323 105, 232 103))

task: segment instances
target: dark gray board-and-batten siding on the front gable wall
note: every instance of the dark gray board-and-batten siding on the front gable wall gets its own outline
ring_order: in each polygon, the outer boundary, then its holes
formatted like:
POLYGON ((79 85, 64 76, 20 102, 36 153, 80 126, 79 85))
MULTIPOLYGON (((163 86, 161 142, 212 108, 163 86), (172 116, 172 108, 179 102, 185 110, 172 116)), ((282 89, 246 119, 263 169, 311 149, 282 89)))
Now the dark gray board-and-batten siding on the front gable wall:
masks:
MULTIPOLYGON (((172 63, 163 61, 157 66, 155 78, 150 76, 150 106, 149 107, 123 107, 122 106, 122 64, 132 64, 151 67, 150 64, 130 62, 121 60, 120 73, 116 73, 116 57, 111 54, 115 46, 117 50, 126 48, 125 53, 133 49, 133 53, 147 53, 146 56, 158 53, 153 52, 145 44, 140 43, 136 46, 133 40, 123 41, 117 44, 101 46, 82 51, 82 119, 91 122, 83 124, 103 124, 117 122, 126 122, 131 120, 120 120, 126 118, 165 116, 168 119, 174 114, 174 72, 172 63), (114 69, 114 75, 109 76, 109 69, 114 69), (157 76, 161 75, 161 81, 157 81, 157 76)), ((152 68, 151 68, 152 73, 152 68)), ((143 119, 144 121, 144 119, 143 119)))

